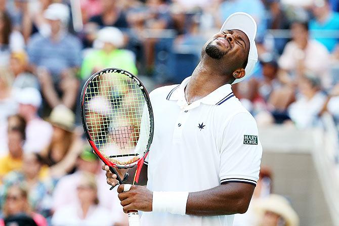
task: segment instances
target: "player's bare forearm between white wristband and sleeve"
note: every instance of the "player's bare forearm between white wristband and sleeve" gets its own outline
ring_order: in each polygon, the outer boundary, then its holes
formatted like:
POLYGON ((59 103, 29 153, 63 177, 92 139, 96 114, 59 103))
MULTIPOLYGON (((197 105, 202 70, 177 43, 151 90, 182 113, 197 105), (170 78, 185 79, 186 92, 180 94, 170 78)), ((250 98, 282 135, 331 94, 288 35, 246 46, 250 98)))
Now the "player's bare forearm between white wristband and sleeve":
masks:
POLYGON ((197 216, 229 215, 244 213, 255 186, 239 189, 238 183, 229 183, 213 189, 189 193, 186 214, 197 216))

